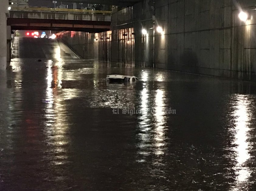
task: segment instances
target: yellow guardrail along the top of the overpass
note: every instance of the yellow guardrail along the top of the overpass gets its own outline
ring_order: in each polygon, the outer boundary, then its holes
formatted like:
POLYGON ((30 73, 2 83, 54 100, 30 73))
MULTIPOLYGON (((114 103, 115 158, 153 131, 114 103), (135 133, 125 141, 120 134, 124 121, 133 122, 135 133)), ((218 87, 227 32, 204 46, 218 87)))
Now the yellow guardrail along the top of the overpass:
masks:
POLYGON ((75 13, 75 14, 95 14, 95 15, 111 15, 111 11, 96 11, 85 9, 63 9, 63 8, 39 8, 39 7, 12 7, 10 12, 24 11, 24 12, 50 12, 50 13, 75 13))

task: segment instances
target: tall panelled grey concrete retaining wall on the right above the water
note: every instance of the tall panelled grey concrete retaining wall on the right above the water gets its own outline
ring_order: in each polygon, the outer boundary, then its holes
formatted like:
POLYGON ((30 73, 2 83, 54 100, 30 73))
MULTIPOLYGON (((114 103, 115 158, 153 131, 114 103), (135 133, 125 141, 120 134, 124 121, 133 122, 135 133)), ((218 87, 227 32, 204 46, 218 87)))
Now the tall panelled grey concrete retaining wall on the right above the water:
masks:
MULTIPOLYGON (((156 37, 156 68, 254 80, 256 11, 248 11, 244 23, 233 2, 156 1, 156 21, 164 28, 156 37)), ((244 10, 254 4, 240 3, 244 10)))

